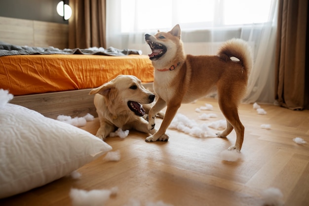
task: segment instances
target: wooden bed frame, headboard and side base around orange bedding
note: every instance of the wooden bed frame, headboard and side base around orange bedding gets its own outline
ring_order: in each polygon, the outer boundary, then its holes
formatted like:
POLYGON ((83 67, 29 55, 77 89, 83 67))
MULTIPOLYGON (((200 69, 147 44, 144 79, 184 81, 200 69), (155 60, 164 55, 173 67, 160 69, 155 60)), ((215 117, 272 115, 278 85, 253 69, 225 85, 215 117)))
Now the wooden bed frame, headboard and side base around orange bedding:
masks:
MULTIPOLYGON (((0 41, 16 45, 68 48, 68 25, 33 20, 0 17, 0 41), (29 35, 25 35, 29 34, 29 35)), ((152 83, 144 86, 152 89, 152 83)), ((14 96, 10 101, 35 110, 45 117, 58 115, 83 117, 90 113, 97 117, 93 95, 89 89, 14 96)))

